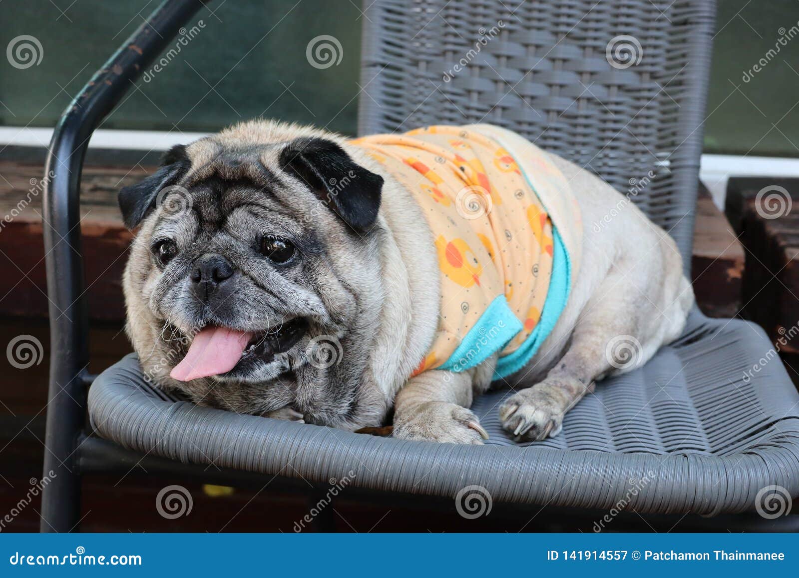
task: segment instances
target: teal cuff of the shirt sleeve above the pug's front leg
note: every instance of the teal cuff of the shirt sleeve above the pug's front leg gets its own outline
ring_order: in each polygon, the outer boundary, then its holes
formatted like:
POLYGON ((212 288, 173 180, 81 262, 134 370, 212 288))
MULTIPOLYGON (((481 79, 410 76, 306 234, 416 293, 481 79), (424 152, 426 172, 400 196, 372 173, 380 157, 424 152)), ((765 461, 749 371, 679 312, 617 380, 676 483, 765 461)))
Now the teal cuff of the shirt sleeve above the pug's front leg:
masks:
POLYGON ((502 351, 523 327, 511 311, 505 296, 499 295, 491 301, 475 326, 469 329, 450 358, 438 369, 455 372, 471 369, 502 351))

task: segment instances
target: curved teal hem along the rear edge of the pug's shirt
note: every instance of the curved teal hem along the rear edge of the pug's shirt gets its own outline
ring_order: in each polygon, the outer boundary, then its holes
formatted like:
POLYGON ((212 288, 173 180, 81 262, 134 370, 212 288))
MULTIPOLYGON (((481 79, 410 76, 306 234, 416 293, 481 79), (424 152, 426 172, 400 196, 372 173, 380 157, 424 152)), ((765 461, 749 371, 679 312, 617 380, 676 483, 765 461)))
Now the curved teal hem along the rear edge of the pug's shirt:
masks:
POLYGON ((544 301, 543 311, 541 312, 541 319, 539 319, 538 325, 535 325, 533 333, 527 337, 519 349, 499 358, 494 371, 495 380, 516 373, 527 365, 527 362, 539 350, 544 340, 549 337, 552 329, 555 328, 555 323, 558 322, 560 314, 563 312, 563 308, 566 307, 571 276, 569 256, 566 253, 566 247, 563 245, 558 230, 554 227, 552 229, 552 238, 554 241, 552 277, 550 277, 550 285, 547 290, 547 299, 544 301))

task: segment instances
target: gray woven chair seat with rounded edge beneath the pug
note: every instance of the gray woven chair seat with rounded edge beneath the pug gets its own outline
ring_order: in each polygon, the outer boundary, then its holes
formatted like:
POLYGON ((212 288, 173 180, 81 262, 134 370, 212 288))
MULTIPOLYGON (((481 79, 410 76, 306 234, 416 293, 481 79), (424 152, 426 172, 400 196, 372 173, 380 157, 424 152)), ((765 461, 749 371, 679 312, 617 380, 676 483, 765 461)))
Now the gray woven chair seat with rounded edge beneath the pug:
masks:
POLYGON ((543 442, 501 428, 507 390, 475 403, 484 446, 404 441, 197 407, 148 385, 129 355, 89 389, 97 434, 186 463, 264 476, 495 502, 718 514, 753 509, 766 486, 799 495, 799 394, 757 325, 694 311, 642 369, 597 385, 543 442), (350 472, 353 472, 352 475, 350 472), (632 490, 635 491, 632 491, 632 490))

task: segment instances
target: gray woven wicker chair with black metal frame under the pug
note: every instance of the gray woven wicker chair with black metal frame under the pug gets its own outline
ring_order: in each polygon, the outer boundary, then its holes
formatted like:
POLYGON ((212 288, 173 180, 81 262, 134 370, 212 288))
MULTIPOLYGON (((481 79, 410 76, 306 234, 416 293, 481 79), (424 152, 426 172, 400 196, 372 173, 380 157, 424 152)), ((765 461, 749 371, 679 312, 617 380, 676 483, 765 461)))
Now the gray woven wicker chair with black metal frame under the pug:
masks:
MULTIPOLYGON (((593 169, 622 192, 646 179, 631 196, 670 231, 690 264, 714 2, 365 5, 361 133, 492 122, 593 169), (619 42, 630 49, 627 58, 619 42)), ((149 26, 169 39, 195 9, 192 2, 167 2, 149 26)), ((133 40, 149 59, 162 47, 153 34, 133 40)), ((105 68, 119 64, 128 82, 139 56, 117 54, 129 59, 105 68)), ((74 152, 78 138, 70 135, 90 134, 124 93, 127 86, 112 81, 115 92, 100 112, 90 110, 99 94, 91 86, 89 98, 78 99, 79 106, 89 102, 82 116, 66 114, 50 162, 57 171, 46 196, 54 224, 46 235, 46 248, 54 249, 50 297, 73 321, 58 311, 52 316, 58 319, 45 467, 58 478, 46 489, 43 529, 70 529, 78 519, 82 472, 120 462, 129 468, 141 454, 149 464, 159 456, 156 470, 204 475, 205 468, 206 477, 231 484, 242 472, 319 484, 350 476, 349 488, 372 495, 447 500, 479 485, 495 504, 519 507, 611 508, 626 498, 638 512, 714 515, 751 510, 764 492, 799 494, 799 396, 778 360, 758 362, 772 344, 756 325, 710 320, 698 310, 682 337, 645 367, 599 384, 567 414, 562 433, 543 442, 515 444, 503 432, 496 410, 503 390, 475 404, 491 434, 486 445, 429 444, 198 408, 149 387, 133 355, 93 381, 88 412, 95 435, 81 433, 85 409, 70 399, 82 402, 90 381, 81 373, 88 361, 85 302, 73 305, 81 262, 56 242, 57 234, 79 242, 80 160, 66 160, 78 171, 72 181, 58 176, 56 161, 74 152), (69 396, 61 395, 65 389, 69 396), (645 487, 630 496, 630 484, 645 487)))

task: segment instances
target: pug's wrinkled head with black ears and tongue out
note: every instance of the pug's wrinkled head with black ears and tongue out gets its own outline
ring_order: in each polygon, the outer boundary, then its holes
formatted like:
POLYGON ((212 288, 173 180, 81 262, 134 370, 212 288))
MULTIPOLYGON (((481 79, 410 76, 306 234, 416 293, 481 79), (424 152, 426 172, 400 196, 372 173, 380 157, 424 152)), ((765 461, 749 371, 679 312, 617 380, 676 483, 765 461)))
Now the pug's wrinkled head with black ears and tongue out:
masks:
POLYGON ((362 421, 382 184, 334 140, 268 125, 176 147, 122 189, 145 374, 201 405, 362 421))

